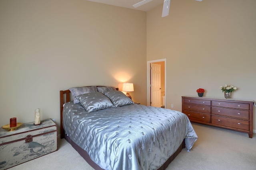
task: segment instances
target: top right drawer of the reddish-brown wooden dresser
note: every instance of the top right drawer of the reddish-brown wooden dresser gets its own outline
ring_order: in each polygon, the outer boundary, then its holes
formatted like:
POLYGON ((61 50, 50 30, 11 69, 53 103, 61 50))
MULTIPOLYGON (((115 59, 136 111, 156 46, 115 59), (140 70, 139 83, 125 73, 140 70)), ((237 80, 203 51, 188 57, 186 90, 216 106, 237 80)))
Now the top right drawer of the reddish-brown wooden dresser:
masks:
POLYGON ((228 107, 228 108, 244 109, 244 110, 249 110, 250 109, 250 105, 246 104, 246 103, 233 103, 233 102, 212 101, 212 106, 228 107))

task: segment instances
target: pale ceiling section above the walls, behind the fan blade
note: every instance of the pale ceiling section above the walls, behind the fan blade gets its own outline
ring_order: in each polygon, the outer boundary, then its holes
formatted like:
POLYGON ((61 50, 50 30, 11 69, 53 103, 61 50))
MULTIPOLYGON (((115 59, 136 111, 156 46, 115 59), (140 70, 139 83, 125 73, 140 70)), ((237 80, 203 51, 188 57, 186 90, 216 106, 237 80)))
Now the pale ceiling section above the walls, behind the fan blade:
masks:
POLYGON ((108 4, 108 5, 114 5, 114 6, 120 6, 124 8, 131 8, 135 10, 141 10, 141 11, 149 11, 152 8, 163 4, 164 0, 152 0, 142 6, 139 6, 138 8, 134 8, 132 5, 141 2, 142 0, 88 0, 92 2, 99 2, 102 4, 108 4))

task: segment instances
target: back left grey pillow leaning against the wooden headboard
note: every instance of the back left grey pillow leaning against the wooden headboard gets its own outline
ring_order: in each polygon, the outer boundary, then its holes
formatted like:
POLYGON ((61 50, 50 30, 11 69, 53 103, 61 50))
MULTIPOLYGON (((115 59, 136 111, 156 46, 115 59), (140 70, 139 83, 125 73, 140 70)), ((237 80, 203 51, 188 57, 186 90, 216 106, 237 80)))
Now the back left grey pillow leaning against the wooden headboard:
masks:
POLYGON ((79 101, 76 99, 76 96, 79 96, 80 94, 85 94, 85 93, 97 92, 97 87, 96 86, 73 87, 73 88, 69 88, 69 90, 73 96, 73 102, 74 104, 76 104, 76 103, 79 103, 79 101))

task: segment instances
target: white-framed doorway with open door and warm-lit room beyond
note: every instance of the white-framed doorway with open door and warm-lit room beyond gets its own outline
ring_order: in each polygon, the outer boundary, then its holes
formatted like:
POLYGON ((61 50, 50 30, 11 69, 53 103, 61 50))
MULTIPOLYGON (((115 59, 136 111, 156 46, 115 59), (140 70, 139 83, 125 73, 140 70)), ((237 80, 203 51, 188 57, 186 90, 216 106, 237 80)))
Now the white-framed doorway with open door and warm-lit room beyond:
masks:
POLYGON ((147 62, 147 105, 166 108, 165 94, 166 94, 166 59, 148 61, 147 62), (152 72, 152 66, 155 67, 153 69, 153 72, 152 72), (158 66, 160 66, 160 73, 157 70, 158 66))

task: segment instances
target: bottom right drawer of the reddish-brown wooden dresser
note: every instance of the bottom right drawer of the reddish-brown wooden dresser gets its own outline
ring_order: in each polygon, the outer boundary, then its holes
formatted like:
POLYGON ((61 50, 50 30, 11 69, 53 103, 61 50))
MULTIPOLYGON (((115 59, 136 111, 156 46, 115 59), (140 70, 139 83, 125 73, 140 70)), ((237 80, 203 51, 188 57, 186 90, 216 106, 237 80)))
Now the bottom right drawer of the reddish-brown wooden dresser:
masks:
POLYGON ((212 124, 249 131, 249 121, 212 115, 212 124))

